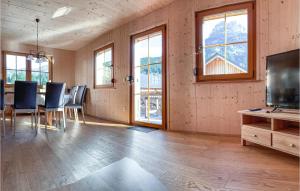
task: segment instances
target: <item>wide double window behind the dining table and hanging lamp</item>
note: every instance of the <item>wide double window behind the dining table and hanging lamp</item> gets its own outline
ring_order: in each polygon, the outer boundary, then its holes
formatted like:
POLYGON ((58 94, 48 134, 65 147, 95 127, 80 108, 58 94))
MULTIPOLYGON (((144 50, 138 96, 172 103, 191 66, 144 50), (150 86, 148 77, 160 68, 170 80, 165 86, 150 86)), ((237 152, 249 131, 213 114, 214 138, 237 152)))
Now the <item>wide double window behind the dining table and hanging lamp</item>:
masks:
POLYGON ((51 81, 51 58, 50 61, 36 63, 36 59, 28 61, 23 53, 3 52, 3 56, 3 78, 7 85, 13 85, 16 80, 36 81, 38 85, 51 81))

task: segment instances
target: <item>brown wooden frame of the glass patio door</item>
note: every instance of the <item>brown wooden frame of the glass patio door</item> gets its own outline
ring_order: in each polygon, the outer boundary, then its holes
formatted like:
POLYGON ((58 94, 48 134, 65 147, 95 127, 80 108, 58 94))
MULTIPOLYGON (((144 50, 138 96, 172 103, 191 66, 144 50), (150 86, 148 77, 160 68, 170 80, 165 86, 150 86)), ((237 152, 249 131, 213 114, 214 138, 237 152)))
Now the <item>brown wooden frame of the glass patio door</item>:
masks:
POLYGON ((130 75, 134 77, 134 41, 137 38, 146 36, 151 33, 162 31, 162 124, 152 124, 135 121, 135 111, 134 111, 134 82, 130 84, 130 124, 131 125, 140 125, 145 127, 152 127, 158 129, 167 129, 167 26, 166 24, 151 28, 149 30, 136 33, 130 36, 130 75))

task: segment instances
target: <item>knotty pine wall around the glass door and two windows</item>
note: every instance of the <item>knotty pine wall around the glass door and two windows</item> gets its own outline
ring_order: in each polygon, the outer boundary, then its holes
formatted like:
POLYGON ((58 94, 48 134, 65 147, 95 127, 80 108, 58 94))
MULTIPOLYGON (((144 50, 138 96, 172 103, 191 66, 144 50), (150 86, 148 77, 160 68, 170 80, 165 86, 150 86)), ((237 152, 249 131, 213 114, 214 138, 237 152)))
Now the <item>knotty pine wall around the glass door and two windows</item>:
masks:
POLYGON ((112 30, 76 52, 75 82, 87 84, 87 112, 129 122, 130 35, 167 25, 168 129, 240 134, 238 110, 265 105, 266 55, 299 48, 299 0, 257 0, 257 79, 195 83, 195 12, 243 0, 176 0, 112 30), (113 89, 93 89, 93 52, 115 43, 113 89))

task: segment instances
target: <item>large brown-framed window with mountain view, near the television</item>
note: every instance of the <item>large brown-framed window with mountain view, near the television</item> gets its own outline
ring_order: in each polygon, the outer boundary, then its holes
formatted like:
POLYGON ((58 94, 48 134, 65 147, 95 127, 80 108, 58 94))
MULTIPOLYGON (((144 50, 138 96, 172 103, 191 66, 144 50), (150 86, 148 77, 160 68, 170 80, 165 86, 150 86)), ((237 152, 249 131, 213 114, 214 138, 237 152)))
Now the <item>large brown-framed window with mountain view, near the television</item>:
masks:
POLYGON ((197 81, 255 76, 254 3, 196 14, 197 81))

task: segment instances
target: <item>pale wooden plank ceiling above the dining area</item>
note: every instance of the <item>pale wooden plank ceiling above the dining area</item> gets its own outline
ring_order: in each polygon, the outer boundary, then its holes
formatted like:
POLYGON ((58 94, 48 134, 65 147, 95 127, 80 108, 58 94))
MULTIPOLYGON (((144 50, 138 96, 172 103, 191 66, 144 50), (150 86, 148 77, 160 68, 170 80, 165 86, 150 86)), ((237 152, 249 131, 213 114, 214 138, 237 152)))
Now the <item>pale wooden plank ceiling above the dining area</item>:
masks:
POLYGON ((77 50, 99 35, 173 0, 1 0, 2 40, 35 44, 40 18, 41 46, 77 50), (72 7, 52 19, 61 7, 72 7))

